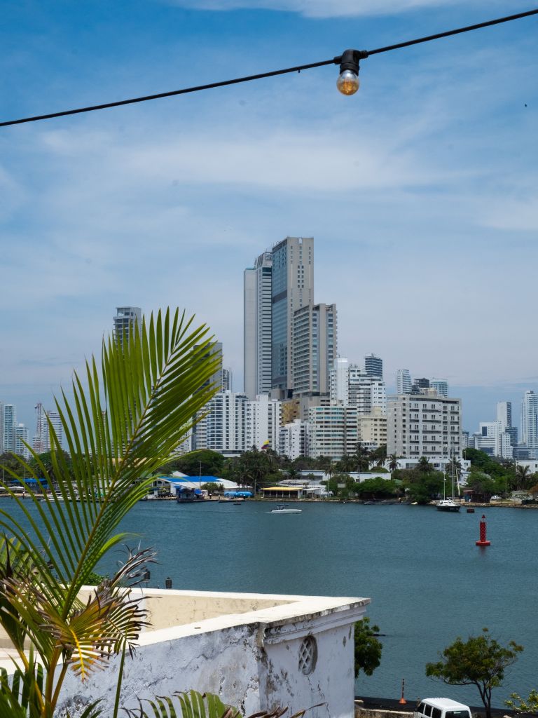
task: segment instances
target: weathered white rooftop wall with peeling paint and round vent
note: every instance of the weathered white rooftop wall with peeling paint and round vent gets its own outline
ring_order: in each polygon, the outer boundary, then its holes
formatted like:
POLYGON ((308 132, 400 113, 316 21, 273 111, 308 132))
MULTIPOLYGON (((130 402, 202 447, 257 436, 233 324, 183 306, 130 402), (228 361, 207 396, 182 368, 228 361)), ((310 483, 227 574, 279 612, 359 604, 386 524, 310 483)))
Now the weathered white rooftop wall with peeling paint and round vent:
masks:
MULTIPOLYGON (((158 592, 152 592, 156 595, 158 592)), ((164 605, 178 594, 161 592, 164 605)), ((210 595, 200 595, 201 603, 210 595), (203 599, 203 600, 202 600, 203 599)), ((255 606, 237 612, 176 625, 141 635, 136 654, 126 659, 122 703, 136 707, 137 696, 150 698, 174 691, 196 689, 218 694, 222 701, 251 714, 277 706, 290 713, 324 705, 311 718, 352 718, 354 714, 353 626, 364 615, 368 599, 216 594, 228 605, 255 606), (237 602, 235 603, 235 599, 237 602), (317 643, 317 662, 309 675, 299 669, 301 643, 308 635, 317 643)), ((83 686, 68 676, 62 692, 63 707, 73 718, 90 699, 103 698, 108 716, 118 678, 116 659, 83 686)))

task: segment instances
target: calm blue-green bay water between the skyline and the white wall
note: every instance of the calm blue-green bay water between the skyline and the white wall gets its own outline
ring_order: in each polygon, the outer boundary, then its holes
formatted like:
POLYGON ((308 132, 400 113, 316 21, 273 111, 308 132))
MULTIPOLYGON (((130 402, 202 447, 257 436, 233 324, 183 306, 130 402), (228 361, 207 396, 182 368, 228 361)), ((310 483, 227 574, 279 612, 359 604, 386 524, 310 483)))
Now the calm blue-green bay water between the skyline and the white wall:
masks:
POLYGON ((150 585, 171 577, 178 589, 371 598, 383 657, 373 676, 357 681, 359 695, 399 698, 405 678, 409 700, 445 695, 477 704, 476 689, 438 684, 424 667, 457 635, 483 626, 525 647, 494 705, 538 688, 538 511, 484 510, 491 546, 478 549, 481 509, 306 503, 301 514, 275 516, 270 508, 146 502, 123 528, 159 551, 150 585))

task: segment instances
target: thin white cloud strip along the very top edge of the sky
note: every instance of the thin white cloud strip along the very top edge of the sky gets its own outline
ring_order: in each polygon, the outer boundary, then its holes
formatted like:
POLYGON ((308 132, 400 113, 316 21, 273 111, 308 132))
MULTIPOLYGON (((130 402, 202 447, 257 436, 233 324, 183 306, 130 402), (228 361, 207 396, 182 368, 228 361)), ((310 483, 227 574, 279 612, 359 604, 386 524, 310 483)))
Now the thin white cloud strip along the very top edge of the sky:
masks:
MULTIPOLYGON (((196 10, 229 11, 237 9, 280 10, 305 17, 359 17, 461 6, 462 0, 169 0, 180 7, 196 10)), ((491 4, 490 4, 491 5, 491 4)))

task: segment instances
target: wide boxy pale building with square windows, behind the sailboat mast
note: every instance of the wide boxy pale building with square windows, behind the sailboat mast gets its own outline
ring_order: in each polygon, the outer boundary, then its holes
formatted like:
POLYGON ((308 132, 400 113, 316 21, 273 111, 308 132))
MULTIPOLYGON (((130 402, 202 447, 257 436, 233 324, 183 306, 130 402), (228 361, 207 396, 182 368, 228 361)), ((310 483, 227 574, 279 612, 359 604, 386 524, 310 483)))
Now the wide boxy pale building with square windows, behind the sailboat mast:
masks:
POLYGON ((387 401, 387 454, 461 457, 461 400, 433 392, 397 394, 387 401))

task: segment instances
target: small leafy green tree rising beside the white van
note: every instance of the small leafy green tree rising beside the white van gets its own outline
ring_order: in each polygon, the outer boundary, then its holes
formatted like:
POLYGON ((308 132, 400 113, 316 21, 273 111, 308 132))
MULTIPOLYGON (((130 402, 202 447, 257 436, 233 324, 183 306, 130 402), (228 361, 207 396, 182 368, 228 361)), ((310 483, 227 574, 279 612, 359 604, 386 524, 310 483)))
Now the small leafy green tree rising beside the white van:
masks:
POLYGON ((521 651, 522 645, 513 640, 501 645, 483 628, 481 635, 469 636, 465 642, 456 638, 440 654, 440 661, 426 664, 426 675, 450 686, 476 686, 486 718, 491 718, 491 691, 502 684, 506 668, 521 651))

